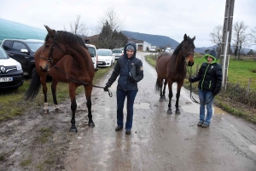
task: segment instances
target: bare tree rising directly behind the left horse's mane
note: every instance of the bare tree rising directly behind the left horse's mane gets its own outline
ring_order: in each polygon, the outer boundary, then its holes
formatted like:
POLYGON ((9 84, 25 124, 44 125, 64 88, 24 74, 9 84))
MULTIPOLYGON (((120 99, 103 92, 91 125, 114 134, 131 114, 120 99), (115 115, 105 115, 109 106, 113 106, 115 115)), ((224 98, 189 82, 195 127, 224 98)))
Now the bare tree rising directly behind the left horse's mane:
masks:
MULTIPOLYGON (((81 16, 80 14, 77 15, 77 19, 72 22, 70 22, 70 32, 72 32, 75 35, 79 35, 80 37, 86 37, 88 35, 89 29, 86 27, 84 23, 81 23, 80 21, 81 16)), ((67 31, 67 29, 64 26, 64 31, 67 31)))

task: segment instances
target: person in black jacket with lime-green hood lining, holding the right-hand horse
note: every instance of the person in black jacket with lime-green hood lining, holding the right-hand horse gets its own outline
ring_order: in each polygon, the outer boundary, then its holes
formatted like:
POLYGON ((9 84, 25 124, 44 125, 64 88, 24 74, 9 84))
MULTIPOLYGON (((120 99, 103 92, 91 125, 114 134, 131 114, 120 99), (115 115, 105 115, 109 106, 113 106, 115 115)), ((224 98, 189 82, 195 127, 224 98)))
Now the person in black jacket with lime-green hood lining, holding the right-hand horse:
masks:
POLYGON ((218 57, 214 49, 205 54, 203 58, 206 62, 201 65, 195 77, 189 78, 189 82, 199 81, 200 121, 197 126, 207 128, 212 119, 212 100, 222 85, 222 67, 217 63, 218 57), (207 105, 207 117, 205 117, 205 105, 207 105))

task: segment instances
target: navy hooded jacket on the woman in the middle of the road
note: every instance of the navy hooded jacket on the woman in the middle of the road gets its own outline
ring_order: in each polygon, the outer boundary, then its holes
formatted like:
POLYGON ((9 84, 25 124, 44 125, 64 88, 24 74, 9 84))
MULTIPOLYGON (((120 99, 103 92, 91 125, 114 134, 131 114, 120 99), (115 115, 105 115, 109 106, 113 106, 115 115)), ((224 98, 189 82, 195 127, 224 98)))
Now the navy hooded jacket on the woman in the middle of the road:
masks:
POLYGON ((108 79, 108 83, 106 85, 110 87, 113 82, 118 79, 118 85, 117 88, 122 89, 123 91, 129 91, 129 90, 138 90, 137 83, 143 79, 143 62, 142 60, 139 60, 136 58, 137 48, 136 43, 134 42, 128 42, 125 45, 124 49, 125 53, 122 57, 119 58, 116 65, 113 68, 113 72, 111 74, 111 77, 108 79), (133 46, 134 54, 129 59, 126 54, 126 48, 128 45, 133 46), (131 67, 136 66, 136 77, 133 77, 134 80, 129 79, 129 72, 131 71, 131 67))

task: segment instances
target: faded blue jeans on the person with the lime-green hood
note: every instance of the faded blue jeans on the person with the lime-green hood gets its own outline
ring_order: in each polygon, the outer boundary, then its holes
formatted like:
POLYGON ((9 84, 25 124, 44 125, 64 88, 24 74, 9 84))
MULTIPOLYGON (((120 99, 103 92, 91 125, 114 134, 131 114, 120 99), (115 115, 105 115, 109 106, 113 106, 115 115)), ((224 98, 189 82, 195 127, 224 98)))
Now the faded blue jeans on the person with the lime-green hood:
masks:
POLYGON ((212 100, 214 96, 211 91, 203 91, 198 88, 198 96, 200 100, 200 121, 210 124, 212 119, 212 100), (205 110, 207 105, 207 118, 205 118, 205 110))

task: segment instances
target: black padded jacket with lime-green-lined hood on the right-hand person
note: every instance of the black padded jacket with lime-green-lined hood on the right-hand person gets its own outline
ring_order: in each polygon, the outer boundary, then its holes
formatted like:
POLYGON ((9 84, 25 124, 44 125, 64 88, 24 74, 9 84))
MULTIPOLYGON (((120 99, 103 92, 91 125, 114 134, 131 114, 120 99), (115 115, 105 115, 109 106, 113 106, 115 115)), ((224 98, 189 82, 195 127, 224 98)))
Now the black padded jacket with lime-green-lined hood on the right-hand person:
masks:
POLYGON ((210 50, 203 56, 204 62, 195 77, 191 77, 191 83, 197 82, 198 88, 203 91, 211 91, 213 94, 218 94, 222 85, 222 67, 217 63, 217 53, 215 50, 210 50), (212 57, 211 64, 207 63, 207 57, 212 57))

